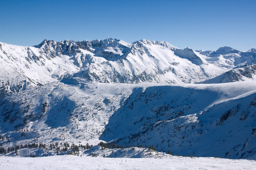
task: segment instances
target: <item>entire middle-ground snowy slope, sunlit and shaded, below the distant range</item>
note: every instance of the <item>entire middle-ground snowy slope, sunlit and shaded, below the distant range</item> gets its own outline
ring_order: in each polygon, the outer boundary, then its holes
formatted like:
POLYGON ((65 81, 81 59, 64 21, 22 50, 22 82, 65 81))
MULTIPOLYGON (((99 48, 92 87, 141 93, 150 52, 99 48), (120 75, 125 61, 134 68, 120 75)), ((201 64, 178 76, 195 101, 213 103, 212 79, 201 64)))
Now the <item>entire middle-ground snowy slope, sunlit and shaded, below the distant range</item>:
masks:
POLYGON ((106 141, 186 156, 256 159, 255 81, 79 84, 49 84, 3 98, 6 139, 0 144, 106 141))

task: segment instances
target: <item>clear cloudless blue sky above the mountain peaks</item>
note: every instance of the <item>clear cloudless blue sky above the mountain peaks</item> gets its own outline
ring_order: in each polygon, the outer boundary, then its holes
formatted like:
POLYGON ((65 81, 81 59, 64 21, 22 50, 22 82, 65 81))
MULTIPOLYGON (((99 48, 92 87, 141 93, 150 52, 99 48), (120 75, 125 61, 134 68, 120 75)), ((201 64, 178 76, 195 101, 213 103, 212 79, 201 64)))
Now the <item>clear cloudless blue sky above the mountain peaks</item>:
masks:
POLYGON ((117 38, 166 40, 176 47, 256 47, 255 0, 0 0, 0 41, 117 38))

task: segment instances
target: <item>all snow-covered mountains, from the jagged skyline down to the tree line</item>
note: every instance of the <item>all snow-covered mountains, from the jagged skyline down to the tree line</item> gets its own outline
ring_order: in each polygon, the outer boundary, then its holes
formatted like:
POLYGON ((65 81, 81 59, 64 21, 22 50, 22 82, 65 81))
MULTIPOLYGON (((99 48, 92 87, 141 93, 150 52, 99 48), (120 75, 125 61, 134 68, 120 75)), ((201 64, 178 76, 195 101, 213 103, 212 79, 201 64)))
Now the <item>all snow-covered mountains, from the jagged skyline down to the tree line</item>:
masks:
POLYGON ((255 60, 149 40, 0 42, 0 147, 114 142, 256 159, 255 60))

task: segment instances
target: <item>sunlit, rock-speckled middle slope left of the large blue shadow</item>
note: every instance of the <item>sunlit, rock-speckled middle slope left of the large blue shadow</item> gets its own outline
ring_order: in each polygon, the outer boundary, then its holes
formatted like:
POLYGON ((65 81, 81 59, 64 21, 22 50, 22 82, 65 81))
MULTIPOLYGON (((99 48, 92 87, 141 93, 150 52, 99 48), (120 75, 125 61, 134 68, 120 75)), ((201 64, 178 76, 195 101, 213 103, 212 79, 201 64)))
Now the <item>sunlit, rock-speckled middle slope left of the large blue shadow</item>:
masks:
POLYGON ((0 130, 17 145, 33 142, 34 138, 44 143, 82 141, 96 145, 109 116, 133 86, 53 83, 5 96, 0 104, 0 130))

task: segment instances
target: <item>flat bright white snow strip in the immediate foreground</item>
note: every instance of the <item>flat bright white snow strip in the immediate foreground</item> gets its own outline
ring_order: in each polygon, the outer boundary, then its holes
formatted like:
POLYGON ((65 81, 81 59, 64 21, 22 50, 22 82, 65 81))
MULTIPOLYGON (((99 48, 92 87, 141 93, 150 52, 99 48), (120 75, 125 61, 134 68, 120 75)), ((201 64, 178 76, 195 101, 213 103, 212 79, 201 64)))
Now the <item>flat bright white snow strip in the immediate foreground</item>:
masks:
POLYGON ((0 157, 0 169, 256 169, 245 159, 190 158, 102 158, 102 157, 0 157))

